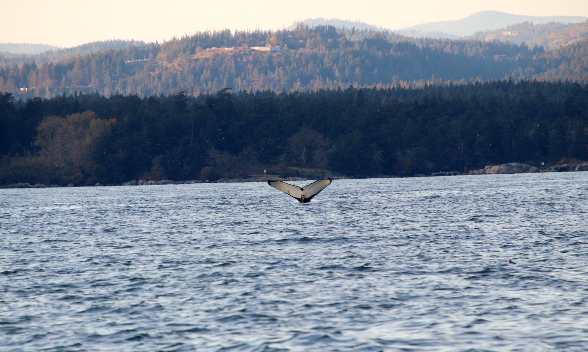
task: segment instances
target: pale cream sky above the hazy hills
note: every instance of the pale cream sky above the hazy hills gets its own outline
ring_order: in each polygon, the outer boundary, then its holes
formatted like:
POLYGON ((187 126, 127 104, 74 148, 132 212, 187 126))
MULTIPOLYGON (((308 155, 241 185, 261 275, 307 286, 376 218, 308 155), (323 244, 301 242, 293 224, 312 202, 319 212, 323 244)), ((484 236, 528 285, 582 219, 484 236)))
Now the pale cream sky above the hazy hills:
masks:
POLYGON ((339 18, 399 29, 478 11, 588 16, 588 0, 2 0, 0 42, 73 47, 106 39, 169 40, 206 29, 280 29, 306 18, 339 18))

